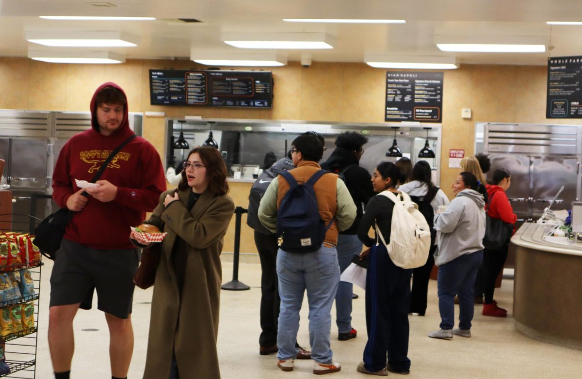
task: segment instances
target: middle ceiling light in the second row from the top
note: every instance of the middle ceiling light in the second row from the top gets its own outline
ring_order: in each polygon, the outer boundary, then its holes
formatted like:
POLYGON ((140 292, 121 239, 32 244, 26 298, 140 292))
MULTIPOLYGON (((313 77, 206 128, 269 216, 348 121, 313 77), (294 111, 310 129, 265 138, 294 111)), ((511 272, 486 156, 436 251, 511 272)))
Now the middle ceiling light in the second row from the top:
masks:
POLYGON ((242 49, 333 49, 325 33, 223 33, 225 44, 242 49))

